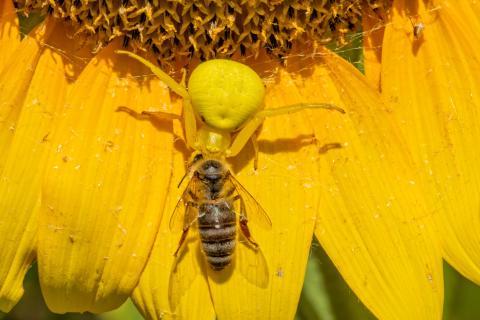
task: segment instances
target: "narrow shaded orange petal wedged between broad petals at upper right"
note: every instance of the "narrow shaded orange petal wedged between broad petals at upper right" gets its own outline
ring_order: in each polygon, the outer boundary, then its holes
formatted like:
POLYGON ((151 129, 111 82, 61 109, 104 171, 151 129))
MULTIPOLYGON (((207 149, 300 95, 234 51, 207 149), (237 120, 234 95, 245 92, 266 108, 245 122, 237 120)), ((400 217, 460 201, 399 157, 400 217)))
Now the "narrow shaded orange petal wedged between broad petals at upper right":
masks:
POLYGON ((363 65, 365 76, 370 83, 380 89, 380 73, 382 67, 382 41, 385 22, 370 7, 365 7, 362 14, 363 33, 363 65))

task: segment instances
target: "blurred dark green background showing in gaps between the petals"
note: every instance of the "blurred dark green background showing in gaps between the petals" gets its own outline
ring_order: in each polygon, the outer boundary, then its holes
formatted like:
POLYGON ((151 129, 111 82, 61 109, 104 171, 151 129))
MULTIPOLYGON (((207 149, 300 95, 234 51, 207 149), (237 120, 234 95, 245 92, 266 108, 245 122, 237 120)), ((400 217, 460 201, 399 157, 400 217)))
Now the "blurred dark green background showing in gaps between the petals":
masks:
MULTIPOLYGON (((22 32, 27 34, 40 21, 34 14, 21 17, 22 32)), ((352 34, 347 45, 330 49, 352 62, 363 71, 362 35, 352 34)), ((445 303, 444 319, 480 319, 480 287, 463 278, 448 264, 444 264, 445 303)), ((137 320, 142 319, 131 301, 121 308, 104 313, 55 315, 46 308, 38 284, 36 267, 32 267, 24 282, 25 295, 1 320, 137 320)), ((373 315, 362 305, 343 281, 318 242, 313 241, 307 265, 305 283, 296 320, 370 320, 373 315)))

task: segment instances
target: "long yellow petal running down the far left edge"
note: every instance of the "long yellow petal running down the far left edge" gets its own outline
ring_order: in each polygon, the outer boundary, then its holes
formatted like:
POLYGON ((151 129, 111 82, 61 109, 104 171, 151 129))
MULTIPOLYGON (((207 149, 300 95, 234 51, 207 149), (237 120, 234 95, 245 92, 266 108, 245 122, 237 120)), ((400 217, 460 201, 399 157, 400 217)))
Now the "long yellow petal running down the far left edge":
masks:
MULTIPOLYGON (((61 55, 43 47, 56 43, 59 27, 41 26, 7 60, 0 74, 0 310, 8 311, 23 294, 23 277, 34 257, 35 208, 40 196, 46 144, 56 108, 67 84, 61 55), (57 29, 57 30, 55 30, 57 29), (42 53, 42 55, 41 55, 42 53), (49 86, 45 87, 45 79, 49 86), (33 160, 34 159, 34 160, 33 160)), ((67 48, 60 47, 66 51, 67 48)))

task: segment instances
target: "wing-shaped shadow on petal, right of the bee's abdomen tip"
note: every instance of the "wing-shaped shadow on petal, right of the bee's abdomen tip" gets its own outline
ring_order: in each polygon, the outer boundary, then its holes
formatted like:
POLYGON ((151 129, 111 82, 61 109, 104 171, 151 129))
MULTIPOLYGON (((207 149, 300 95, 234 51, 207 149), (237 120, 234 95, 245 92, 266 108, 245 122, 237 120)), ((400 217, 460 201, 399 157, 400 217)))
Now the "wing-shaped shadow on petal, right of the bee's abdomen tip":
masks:
POLYGON ((267 261, 262 250, 260 247, 253 248, 249 245, 243 235, 239 236, 239 242, 241 245, 237 248, 235 264, 240 274, 249 283, 260 288, 266 288, 268 286, 269 273, 267 261))

